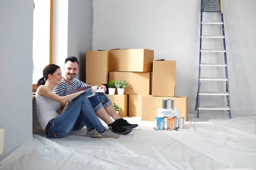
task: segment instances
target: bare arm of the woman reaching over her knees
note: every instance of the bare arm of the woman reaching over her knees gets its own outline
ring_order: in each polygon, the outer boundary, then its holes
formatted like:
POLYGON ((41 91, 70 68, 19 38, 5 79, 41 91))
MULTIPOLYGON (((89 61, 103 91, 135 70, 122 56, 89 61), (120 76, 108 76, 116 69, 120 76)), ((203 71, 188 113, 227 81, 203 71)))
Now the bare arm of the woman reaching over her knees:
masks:
POLYGON ((47 97, 48 99, 51 99, 55 102, 67 103, 67 102, 69 102, 70 99, 73 99, 75 96, 81 94, 84 91, 79 91, 77 93, 70 94, 67 96, 58 96, 58 94, 53 93, 48 87, 41 85, 38 87, 37 92, 40 96, 47 97))

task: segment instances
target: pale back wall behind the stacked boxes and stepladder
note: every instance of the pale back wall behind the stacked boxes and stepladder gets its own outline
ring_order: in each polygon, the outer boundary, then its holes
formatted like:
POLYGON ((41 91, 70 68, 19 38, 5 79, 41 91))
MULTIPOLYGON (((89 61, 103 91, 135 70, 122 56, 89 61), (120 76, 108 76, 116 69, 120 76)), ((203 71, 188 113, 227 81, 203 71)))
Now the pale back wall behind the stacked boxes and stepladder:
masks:
MULTIPOLYGON (((256 67, 256 1, 223 1, 230 78, 232 113, 252 113, 256 67), (244 69, 244 70, 242 70, 244 69)), ((200 42, 200 0, 94 0, 93 50, 149 48, 155 59, 177 61, 176 95, 189 96, 189 113, 195 113, 198 88, 200 42)), ((204 13, 205 21, 220 21, 216 14, 204 13)), ((217 26, 204 27, 203 33, 221 35, 217 26)), ((221 40, 204 41, 203 48, 221 48, 221 40), (213 43, 212 43, 213 42, 213 43)), ((202 62, 224 62, 223 55, 204 55, 202 62), (216 60, 214 60, 216 59, 216 60)), ((220 68, 219 68, 220 69, 220 68)), ((204 69, 207 76, 225 77, 224 69, 204 69), (212 73, 210 73, 212 71, 212 73)), ((206 74, 202 74, 206 76, 206 74)), ((224 83, 204 83, 201 90, 224 90, 224 83), (223 88, 218 88, 219 86, 223 88)), ((201 97, 206 105, 223 104, 216 97, 201 97), (211 100, 215 99, 215 100, 211 100)), ((226 103, 225 103, 226 104, 226 103)))

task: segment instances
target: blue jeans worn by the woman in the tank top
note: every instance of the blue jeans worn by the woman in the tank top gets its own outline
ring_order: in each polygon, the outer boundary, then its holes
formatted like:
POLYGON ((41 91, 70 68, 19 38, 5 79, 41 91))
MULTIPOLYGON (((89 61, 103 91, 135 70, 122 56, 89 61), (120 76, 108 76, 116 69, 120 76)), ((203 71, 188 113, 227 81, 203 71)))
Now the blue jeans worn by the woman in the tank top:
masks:
POLYGON ((103 132, 105 127, 97 118, 92 106, 93 105, 85 95, 81 94, 78 96, 61 115, 57 116, 53 121, 50 121, 51 125, 47 131, 49 136, 53 138, 63 138, 67 136, 70 131, 81 129, 82 125, 86 125, 87 129, 95 127, 99 133, 103 132))

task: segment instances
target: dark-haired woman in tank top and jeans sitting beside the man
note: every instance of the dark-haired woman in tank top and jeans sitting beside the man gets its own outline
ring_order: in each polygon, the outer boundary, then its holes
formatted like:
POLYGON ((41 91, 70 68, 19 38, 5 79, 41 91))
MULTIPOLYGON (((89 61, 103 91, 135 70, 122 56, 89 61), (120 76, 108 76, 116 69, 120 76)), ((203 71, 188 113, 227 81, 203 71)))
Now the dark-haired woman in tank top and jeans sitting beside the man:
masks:
POLYGON ((52 92, 62 79, 58 65, 49 64, 44 68, 43 77, 38 80, 35 105, 39 123, 45 133, 53 138, 63 138, 71 130, 87 127, 86 136, 95 138, 119 138, 119 135, 106 129, 97 118, 90 101, 83 91, 67 96, 58 96, 52 92), (75 99, 75 96, 79 95, 75 99), (69 100, 73 99, 71 103, 69 100), (68 102, 68 103, 67 103, 68 102), (61 111, 60 103, 67 103, 61 111))

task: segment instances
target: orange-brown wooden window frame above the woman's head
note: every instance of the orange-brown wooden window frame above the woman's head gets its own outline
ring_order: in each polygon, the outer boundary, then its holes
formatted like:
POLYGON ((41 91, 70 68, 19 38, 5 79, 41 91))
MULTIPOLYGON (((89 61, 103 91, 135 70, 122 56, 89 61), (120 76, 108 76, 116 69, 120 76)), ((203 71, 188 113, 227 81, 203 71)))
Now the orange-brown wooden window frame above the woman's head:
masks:
MULTIPOLYGON (((52 18, 53 18, 53 0, 50 0, 50 46, 49 46, 49 64, 52 64, 52 18)), ((36 84, 32 84, 32 92, 35 92, 37 87, 36 84)))

